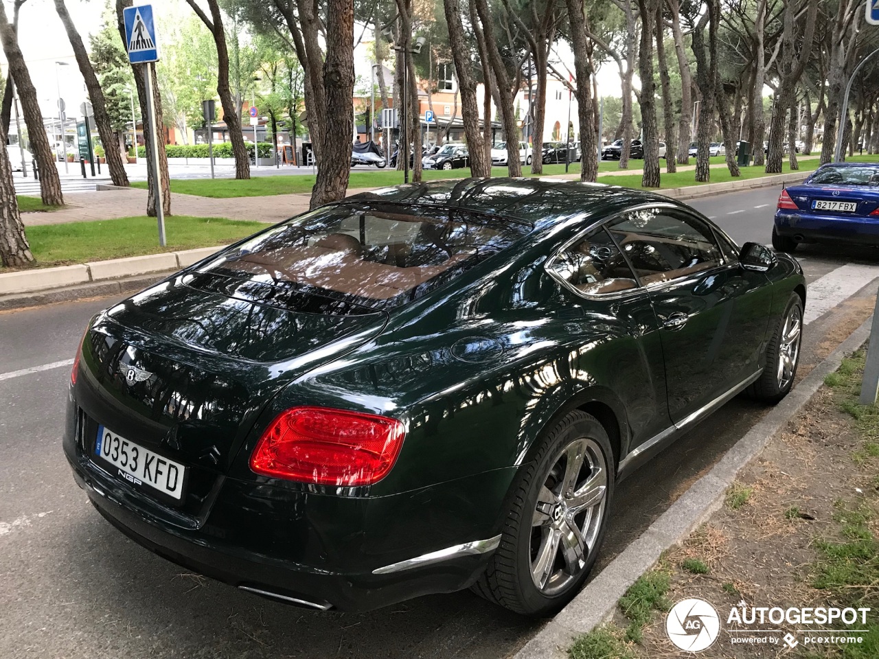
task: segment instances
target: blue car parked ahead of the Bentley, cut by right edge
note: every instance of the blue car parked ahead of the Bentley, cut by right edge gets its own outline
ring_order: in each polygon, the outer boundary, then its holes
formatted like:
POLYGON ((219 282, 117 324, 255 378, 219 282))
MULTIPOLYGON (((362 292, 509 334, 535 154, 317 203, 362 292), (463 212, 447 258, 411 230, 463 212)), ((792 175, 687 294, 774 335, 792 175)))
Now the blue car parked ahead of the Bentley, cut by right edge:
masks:
POLYGON ((879 246, 879 164, 825 164, 782 190, 772 244, 792 252, 799 243, 879 246))

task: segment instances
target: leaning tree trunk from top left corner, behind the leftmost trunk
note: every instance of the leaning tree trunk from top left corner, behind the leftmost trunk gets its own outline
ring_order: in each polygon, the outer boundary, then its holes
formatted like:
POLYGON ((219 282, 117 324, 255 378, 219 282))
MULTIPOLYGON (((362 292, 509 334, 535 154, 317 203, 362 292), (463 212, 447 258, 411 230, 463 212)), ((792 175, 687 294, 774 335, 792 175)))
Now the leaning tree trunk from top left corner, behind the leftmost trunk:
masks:
MULTIPOLYGON (((43 126, 43 115, 40 112, 37 90, 31 82, 31 74, 27 70, 25 57, 18 47, 18 37, 6 18, 6 8, 3 3, 0 3, 0 40, 3 40, 6 62, 9 62, 9 74, 15 80, 18 99, 21 101, 21 108, 25 113, 27 136, 31 141, 33 158, 40 168, 40 197, 47 206, 62 206, 64 197, 61 191, 61 179, 58 177, 57 168, 55 168, 46 127, 43 126)), ((5 143, 4 139, 3 146, 5 143)), ((12 180, 11 175, 10 180, 12 180)))

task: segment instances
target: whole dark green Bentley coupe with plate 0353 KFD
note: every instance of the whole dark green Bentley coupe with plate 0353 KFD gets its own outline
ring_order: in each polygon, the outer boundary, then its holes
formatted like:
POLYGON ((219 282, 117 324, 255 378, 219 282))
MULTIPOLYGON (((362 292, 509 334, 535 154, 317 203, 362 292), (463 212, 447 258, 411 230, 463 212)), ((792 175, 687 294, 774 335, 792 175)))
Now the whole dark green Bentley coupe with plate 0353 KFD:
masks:
POLYGON ((546 615, 621 478, 732 396, 788 393, 805 295, 795 260, 656 194, 382 189, 95 316, 64 450, 121 532, 244 590, 546 615))

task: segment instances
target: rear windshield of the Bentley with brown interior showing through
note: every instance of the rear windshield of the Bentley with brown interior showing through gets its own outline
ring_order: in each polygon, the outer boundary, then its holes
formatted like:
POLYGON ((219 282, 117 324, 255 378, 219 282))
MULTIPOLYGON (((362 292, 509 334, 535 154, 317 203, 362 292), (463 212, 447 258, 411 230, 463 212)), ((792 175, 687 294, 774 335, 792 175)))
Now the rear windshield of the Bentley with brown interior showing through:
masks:
POLYGON ((331 206, 256 235, 199 272, 229 279, 226 290, 281 289, 265 299, 301 310, 362 314, 417 299, 530 229, 455 209, 331 206))

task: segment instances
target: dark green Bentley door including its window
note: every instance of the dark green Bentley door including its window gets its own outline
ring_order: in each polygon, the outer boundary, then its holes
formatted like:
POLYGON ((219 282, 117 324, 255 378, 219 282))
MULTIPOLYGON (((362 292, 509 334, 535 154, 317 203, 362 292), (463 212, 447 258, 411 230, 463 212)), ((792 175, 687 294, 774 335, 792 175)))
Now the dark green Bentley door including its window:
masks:
POLYGON ((772 302, 766 274, 683 208, 657 204, 610 226, 659 322, 668 408, 676 424, 759 373, 772 302))

